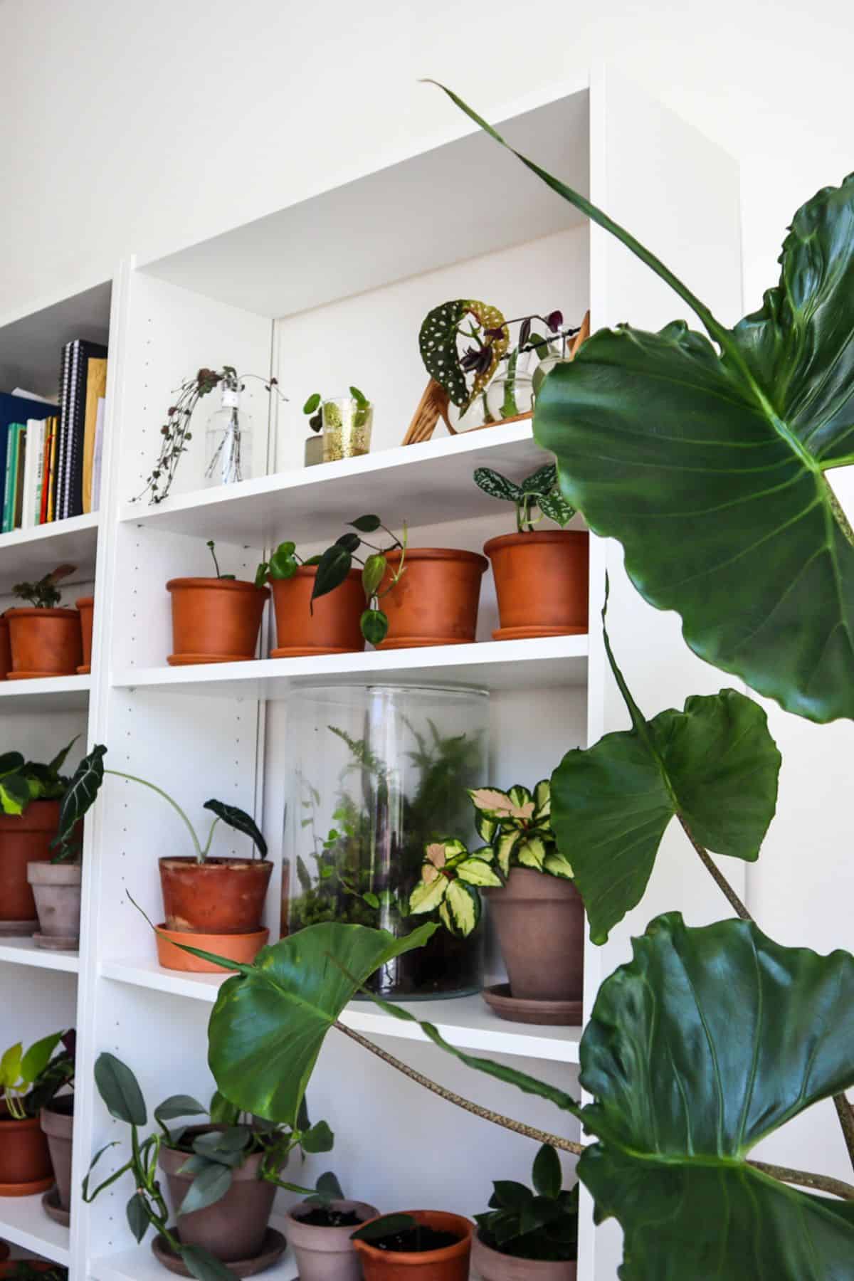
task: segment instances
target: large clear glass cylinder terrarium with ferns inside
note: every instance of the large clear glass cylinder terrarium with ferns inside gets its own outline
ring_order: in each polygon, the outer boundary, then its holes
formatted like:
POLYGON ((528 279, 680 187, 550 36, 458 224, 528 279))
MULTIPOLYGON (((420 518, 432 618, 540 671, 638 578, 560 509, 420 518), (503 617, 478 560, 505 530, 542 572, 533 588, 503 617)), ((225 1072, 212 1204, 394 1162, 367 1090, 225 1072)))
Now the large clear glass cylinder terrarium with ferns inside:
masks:
MULTIPOLYGON (((283 931, 321 921, 397 936, 433 915, 408 915, 424 847, 478 840, 466 788, 487 780, 489 696, 480 689, 311 687, 289 703, 294 770, 287 808, 283 931), (287 899, 287 901, 286 901, 287 899)), ((480 927, 442 924, 424 948, 370 980, 384 997, 428 999, 479 991, 480 927)))

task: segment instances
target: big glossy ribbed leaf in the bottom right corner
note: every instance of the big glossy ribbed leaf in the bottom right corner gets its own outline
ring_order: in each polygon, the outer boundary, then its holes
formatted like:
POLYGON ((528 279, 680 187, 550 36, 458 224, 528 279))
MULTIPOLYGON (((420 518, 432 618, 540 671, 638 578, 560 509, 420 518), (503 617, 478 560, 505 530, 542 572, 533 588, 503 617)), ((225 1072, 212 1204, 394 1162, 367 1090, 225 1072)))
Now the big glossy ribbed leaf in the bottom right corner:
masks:
POLYGON ((849 1278, 854 1203, 746 1163, 813 1103, 854 1085, 854 957, 778 947, 755 925, 689 929, 679 912, 634 940, 581 1039, 579 1162, 597 1221, 624 1234, 622 1281, 849 1278), (796 1034, 793 1034, 796 1029, 796 1034))

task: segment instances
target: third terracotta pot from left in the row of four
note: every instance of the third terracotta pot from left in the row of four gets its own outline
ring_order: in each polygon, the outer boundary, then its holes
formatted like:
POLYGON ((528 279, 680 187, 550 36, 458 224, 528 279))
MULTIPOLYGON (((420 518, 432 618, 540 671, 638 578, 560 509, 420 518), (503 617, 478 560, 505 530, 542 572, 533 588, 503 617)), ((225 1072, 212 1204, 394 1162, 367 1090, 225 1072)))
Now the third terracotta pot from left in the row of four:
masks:
MULTIPOLYGON (((399 555, 387 555, 389 569, 384 585, 388 585, 399 555)), ((487 561, 478 552, 443 547, 407 551, 403 576, 380 601, 388 615, 388 635, 379 648, 471 643, 478 628, 480 580, 485 569, 487 561)))

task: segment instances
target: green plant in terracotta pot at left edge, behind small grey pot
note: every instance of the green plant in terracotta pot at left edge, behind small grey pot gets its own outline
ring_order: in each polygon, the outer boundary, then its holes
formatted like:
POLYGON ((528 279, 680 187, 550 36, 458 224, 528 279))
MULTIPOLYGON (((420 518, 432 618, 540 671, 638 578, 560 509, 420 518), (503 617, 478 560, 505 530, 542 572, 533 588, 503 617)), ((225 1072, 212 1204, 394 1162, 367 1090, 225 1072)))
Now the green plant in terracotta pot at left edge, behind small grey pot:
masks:
POLYGON ((49 765, 20 752, 0 756, 0 938, 27 938, 38 927, 28 881, 33 863, 49 863, 69 780, 60 774, 76 739, 49 765))

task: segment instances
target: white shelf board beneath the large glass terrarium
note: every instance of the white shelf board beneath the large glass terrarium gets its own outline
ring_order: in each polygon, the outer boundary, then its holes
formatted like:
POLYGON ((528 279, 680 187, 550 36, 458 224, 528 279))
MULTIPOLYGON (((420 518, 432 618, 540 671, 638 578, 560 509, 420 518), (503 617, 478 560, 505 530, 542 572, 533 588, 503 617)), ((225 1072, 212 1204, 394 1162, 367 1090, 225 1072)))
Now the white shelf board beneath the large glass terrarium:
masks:
MULTIPOLYGON (((214 1004, 224 976, 215 974, 182 974, 164 970, 156 961, 102 961, 105 979, 129 983, 174 997, 189 997, 214 1004)), ((433 1024, 447 1041, 458 1049, 490 1054, 520 1054, 526 1058, 577 1063, 581 1027, 548 1027, 535 1024, 511 1024, 489 1009, 483 997, 457 997, 448 1000, 402 1002, 420 1020, 433 1024)), ((407 1024, 384 1013, 370 1000, 352 1000, 342 1024, 370 1036, 394 1036, 398 1040, 424 1041, 416 1024, 407 1024)))

